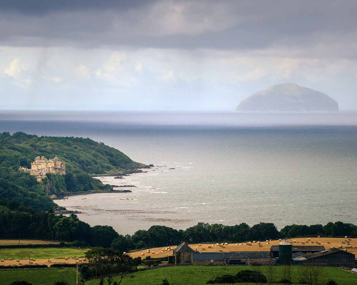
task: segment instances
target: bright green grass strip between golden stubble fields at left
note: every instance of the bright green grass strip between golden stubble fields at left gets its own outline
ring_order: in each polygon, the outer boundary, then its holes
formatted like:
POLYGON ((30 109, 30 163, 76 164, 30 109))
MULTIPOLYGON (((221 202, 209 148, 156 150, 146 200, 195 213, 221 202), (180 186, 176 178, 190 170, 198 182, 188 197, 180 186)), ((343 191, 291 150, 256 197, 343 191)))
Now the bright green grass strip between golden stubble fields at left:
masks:
POLYGON ((14 248, 0 249, 0 259, 35 259, 84 257, 86 249, 75 248, 14 248))

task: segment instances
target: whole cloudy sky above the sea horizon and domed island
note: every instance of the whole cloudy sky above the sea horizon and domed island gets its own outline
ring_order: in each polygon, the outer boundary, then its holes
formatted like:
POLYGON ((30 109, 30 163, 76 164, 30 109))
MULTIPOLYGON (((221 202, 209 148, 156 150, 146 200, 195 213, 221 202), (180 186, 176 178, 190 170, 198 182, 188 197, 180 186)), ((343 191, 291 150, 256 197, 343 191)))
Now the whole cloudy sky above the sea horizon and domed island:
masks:
POLYGON ((234 110, 295 82, 357 110, 357 1, 1 0, 0 109, 234 110))

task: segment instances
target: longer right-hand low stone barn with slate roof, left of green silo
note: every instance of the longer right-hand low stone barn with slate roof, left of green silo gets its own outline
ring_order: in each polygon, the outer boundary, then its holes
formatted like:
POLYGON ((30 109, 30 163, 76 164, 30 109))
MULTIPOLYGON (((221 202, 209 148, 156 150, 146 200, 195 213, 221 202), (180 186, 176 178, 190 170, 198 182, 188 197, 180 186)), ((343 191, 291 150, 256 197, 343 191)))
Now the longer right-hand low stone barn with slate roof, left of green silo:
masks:
POLYGON ((225 252, 223 253, 226 264, 235 264, 235 261, 247 265, 267 265, 270 263, 269 252, 225 252))

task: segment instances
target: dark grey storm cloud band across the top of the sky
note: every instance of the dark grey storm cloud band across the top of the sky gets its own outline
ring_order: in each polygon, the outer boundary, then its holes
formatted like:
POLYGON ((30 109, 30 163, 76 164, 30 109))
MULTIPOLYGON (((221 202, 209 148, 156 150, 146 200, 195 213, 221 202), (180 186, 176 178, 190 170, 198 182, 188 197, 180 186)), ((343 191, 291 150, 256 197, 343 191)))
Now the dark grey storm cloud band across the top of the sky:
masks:
POLYGON ((6 0, 0 40, 19 46, 223 50, 338 44, 352 56, 356 8, 357 1, 6 0))

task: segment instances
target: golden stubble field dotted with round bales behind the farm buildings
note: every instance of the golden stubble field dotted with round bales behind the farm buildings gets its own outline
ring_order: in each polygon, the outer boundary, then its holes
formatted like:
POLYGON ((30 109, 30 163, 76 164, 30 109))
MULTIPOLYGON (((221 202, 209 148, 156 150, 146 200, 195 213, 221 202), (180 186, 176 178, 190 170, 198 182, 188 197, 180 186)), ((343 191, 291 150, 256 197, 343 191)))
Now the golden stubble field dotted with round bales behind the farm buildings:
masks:
MULTIPOLYGON (((303 245, 301 244, 301 242, 306 242, 307 238, 295 238, 292 240, 292 244, 294 245, 303 245), (296 240, 296 243, 293 242, 293 240, 296 240)), ((331 247, 340 247, 342 246, 342 248, 346 248, 348 252, 351 253, 355 253, 357 254, 357 239, 352 239, 349 243, 350 246, 347 246, 346 244, 342 244, 343 241, 345 241, 345 238, 310 238, 310 241, 313 241, 314 243, 308 243, 305 245, 323 245, 325 247, 325 249, 331 248, 331 247), (317 244, 316 242, 320 242, 320 244, 317 244), (327 244, 327 242, 330 242, 330 244, 327 244), (348 248, 350 247, 350 248, 348 248), (353 248, 354 247, 354 248, 353 248)), ((252 242, 252 241, 251 241, 252 242)), ((232 243, 232 244, 228 244, 225 245, 225 248, 220 247, 219 245, 217 246, 215 243, 205 243, 205 244, 188 244, 192 249, 197 249, 198 251, 202 251, 202 248, 205 248, 205 252, 219 252, 219 250, 221 249, 222 252, 268 252, 270 251, 270 247, 272 245, 278 245, 280 242, 279 240, 272 240, 271 242, 269 242, 269 244, 267 244, 265 241, 261 241, 261 247, 259 246, 258 243, 251 243, 251 245, 247 245, 246 243, 240 243, 240 244, 236 244, 236 243, 232 243), (211 246, 211 248, 209 248, 208 246, 211 246)), ((176 245, 170 245, 171 248, 175 248, 176 245)), ((172 251, 168 252, 168 251, 164 251, 162 252, 162 247, 160 248, 150 248, 151 252, 155 252, 155 254, 152 253, 146 253, 147 249, 145 250, 140 250, 138 252, 132 252, 129 253, 133 258, 140 256, 142 259, 144 259, 147 255, 150 255, 153 258, 156 257, 166 257, 167 255, 172 255, 172 251), (144 256, 141 256, 141 254, 144 253, 144 256)))

